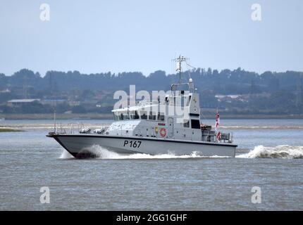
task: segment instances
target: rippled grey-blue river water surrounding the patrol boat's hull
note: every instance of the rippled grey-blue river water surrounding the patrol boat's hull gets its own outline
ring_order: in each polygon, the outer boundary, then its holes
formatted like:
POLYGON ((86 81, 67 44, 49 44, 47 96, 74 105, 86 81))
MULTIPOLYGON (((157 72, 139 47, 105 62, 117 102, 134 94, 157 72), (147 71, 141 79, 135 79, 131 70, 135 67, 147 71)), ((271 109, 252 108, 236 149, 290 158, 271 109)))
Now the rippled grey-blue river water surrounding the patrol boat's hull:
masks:
MULTIPOLYGON (((111 123, 58 121, 70 122, 111 123)), ((221 120, 236 158, 99 148, 99 158, 75 160, 45 136, 51 120, 0 126, 24 130, 0 133, 0 210, 303 210, 303 120, 221 120), (44 186, 50 203, 42 204, 44 186)))

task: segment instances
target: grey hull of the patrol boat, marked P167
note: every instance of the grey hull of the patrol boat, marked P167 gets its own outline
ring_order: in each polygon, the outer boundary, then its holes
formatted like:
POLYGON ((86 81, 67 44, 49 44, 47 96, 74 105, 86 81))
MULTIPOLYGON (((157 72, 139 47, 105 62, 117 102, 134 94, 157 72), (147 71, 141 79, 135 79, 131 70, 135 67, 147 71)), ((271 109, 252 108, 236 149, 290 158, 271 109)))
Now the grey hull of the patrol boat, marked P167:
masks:
POLYGON ((120 154, 146 153, 158 155, 174 153, 190 155, 197 152, 203 156, 235 157, 236 145, 230 143, 209 143, 202 141, 183 141, 142 137, 122 137, 92 134, 55 134, 50 136, 75 158, 94 156, 94 146, 101 146, 120 154))

